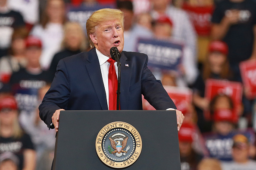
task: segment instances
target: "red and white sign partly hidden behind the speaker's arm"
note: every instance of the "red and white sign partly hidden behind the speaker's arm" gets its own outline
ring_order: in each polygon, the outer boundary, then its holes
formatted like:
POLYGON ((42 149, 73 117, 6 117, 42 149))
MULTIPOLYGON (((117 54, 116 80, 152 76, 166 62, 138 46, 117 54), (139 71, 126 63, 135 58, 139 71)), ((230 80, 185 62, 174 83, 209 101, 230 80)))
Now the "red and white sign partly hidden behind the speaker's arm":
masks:
MULTIPOLYGON (((190 88, 180 88, 172 86, 164 86, 165 90, 171 97, 172 101, 175 103, 175 106, 183 114, 186 114, 188 104, 192 103, 192 91, 190 88)), ((144 110, 155 110, 147 100, 142 100, 144 110)))

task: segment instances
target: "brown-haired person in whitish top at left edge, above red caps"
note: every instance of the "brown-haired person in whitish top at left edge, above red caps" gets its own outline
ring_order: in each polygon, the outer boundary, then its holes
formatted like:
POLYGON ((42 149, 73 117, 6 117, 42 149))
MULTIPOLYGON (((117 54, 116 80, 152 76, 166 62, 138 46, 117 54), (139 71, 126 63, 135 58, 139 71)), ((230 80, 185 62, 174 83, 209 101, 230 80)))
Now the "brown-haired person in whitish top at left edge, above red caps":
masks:
POLYGON ((0 81, 8 83, 13 72, 25 67, 27 63, 25 59, 25 39, 27 36, 28 31, 25 28, 14 30, 9 55, 0 58, 0 81))

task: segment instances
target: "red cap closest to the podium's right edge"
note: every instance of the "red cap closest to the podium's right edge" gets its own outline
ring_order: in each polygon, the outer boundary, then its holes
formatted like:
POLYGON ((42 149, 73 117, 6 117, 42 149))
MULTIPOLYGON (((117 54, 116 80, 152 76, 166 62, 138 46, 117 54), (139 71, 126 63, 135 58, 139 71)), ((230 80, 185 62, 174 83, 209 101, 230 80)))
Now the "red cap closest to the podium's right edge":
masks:
POLYGON ((178 132, 179 141, 181 142, 193 142, 193 136, 195 134, 195 127, 193 124, 184 123, 178 132))

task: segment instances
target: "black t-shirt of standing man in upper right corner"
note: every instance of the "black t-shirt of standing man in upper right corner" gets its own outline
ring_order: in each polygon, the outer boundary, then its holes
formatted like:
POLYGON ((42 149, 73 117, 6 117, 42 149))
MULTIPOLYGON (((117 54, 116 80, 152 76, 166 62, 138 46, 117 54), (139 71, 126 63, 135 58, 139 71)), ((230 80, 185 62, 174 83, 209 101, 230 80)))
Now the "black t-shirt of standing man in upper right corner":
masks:
POLYGON ((240 11, 240 21, 231 25, 228 33, 222 39, 228 44, 228 58, 231 64, 238 64, 250 58, 253 50, 253 26, 256 25, 256 2, 244 0, 233 3, 230 0, 222 0, 217 4, 212 15, 212 23, 219 24, 222 18, 231 9, 240 11))

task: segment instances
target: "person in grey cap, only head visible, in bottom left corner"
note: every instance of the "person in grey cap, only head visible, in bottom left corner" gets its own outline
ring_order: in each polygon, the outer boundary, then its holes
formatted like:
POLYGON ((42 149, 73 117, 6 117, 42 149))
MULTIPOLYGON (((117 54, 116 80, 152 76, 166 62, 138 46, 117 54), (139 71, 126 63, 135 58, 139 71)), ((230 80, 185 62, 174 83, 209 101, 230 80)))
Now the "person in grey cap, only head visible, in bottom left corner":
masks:
POLYGON ((19 170, 19 158, 12 152, 0 155, 0 170, 19 170))

